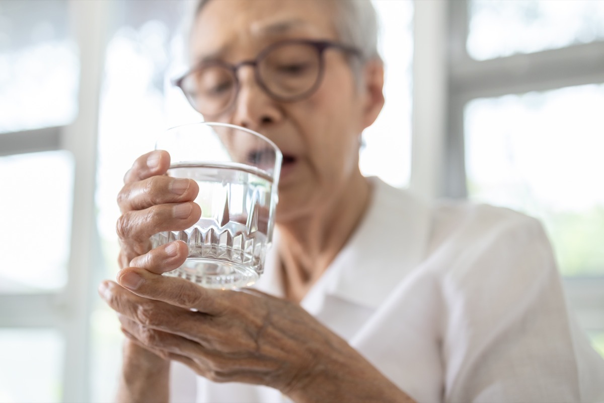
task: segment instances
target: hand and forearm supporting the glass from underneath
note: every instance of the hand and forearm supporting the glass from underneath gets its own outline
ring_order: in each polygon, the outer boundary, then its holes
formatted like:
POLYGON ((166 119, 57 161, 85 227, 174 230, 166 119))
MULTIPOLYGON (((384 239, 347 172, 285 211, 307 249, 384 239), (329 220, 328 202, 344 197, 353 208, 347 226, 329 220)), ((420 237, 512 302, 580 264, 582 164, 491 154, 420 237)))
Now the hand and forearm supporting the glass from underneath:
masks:
POLYGON ((101 284, 132 343, 211 381, 267 385, 295 401, 411 401, 291 301, 161 276, 184 262, 182 252, 156 248, 121 270, 119 284, 101 284))

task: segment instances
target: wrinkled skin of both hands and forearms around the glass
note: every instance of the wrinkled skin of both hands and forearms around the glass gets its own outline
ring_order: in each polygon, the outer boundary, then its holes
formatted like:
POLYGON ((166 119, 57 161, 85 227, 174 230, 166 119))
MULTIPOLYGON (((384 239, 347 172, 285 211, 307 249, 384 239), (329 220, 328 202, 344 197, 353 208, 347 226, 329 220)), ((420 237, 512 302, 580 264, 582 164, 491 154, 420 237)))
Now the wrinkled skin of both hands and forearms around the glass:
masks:
MULTIPOLYGON (((151 369, 149 376, 158 376, 167 387, 170 359, 212 381, 268 385, 298 401, 340 396, 344 390, 358 388, 359 379, 367 383, 361 392, 368 396, 384 396, 389 390, 402 393, 344 340, 291 301, 253 289, 204 289, 184 279, 161 276, 184 263, 187 246, 176 241, 149 250, 149 234, 186 228, 200 213, 190 202, 197 194, 194 181, 188 187, 181 185, 178 194, 170 192, 178 188, 178 179, 155 175, 167 166, 169 156, 153 152, 141 156, 126 174, 118 197, 123 211, 118 233, 120 263, 130 267, 118 273, 117 283, 106 281, 99 288, 101 297, 118 312, 129 340, 124 362, 127 366, 132 360, 132 368, 137 369, 130 376, 124 369, 121 401, 157 399, 156 393, 148 395, 153 389, 144 385, 146 378, 140 372, 151 369), (149 168, 147 160, 156 167, 149 168), (187 204, 189 214, 175 217, 175 206, 187 204), (143 385, 137 393, 138 382, 143 385)), ((167 400, 167 390, 159 396, 167 400)))

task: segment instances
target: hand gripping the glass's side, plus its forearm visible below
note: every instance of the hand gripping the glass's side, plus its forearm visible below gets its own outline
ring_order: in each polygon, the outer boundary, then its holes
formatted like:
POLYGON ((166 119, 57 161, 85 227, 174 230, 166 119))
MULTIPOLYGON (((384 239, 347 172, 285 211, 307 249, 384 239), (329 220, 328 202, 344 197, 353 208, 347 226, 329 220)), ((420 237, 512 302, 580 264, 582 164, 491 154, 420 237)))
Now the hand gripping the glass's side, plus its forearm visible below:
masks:
MULTIPOLYGON (((116 226, 121 246, 120 268, 129 266, 135 257, 149 256, 146 253, 153 234, 183 230, 201 215, 201 209, 193 202, 199 192, 198 185, 191 179, 166 176, 169 166, 167 152, 153 151, 140 156, 124 176, 124 187, 117 198, 121 210, 116 226)), ((184 261, 188 253, 184 242, 173 242, 159 249, 175 261, 184 261)), ((167 263, 167 268, 178 267, 170 265, 170 261, 167 263)), ((150 398, 167 401, 168 361, 126 340, 122 367, 118 401, 149 401, 150 398)))

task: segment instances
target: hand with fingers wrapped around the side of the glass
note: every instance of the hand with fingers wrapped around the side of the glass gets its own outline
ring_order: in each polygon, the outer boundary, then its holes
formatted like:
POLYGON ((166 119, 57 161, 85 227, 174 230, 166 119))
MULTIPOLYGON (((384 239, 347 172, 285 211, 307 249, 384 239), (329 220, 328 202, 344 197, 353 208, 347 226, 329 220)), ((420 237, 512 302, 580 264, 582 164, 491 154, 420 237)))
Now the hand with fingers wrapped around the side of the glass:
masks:
POLYGON ((153 234, 184 230, 201 216, 201 208, 193 202, 198 185, 192 179, 166 176, 169 166, 167 152, 153 151, 141 155, 124 176, 124 187, 117 197, 121 210, 116 227, 121 246, 120 268, 150 250, 149 238, 153 234))

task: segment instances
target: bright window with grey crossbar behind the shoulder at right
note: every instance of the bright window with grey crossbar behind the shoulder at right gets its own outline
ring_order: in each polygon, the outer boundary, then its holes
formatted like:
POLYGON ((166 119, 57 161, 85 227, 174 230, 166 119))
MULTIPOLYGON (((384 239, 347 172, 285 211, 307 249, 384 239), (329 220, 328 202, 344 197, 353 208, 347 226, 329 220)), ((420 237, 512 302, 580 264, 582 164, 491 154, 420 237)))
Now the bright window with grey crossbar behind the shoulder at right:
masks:
POLYGON ((579 323, 604 332, 604 4, 449 2, 442 194, 541 219, 579 323))

